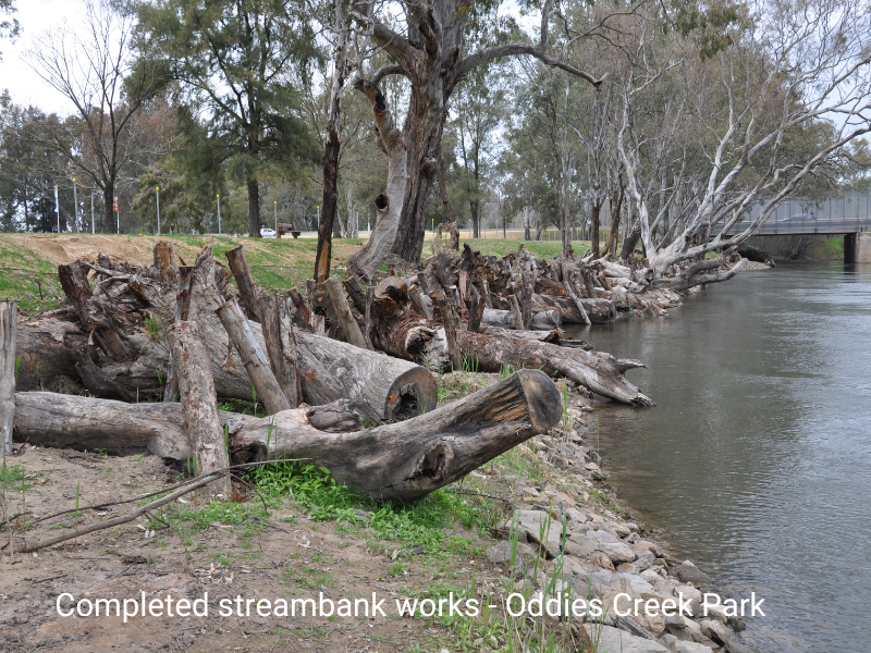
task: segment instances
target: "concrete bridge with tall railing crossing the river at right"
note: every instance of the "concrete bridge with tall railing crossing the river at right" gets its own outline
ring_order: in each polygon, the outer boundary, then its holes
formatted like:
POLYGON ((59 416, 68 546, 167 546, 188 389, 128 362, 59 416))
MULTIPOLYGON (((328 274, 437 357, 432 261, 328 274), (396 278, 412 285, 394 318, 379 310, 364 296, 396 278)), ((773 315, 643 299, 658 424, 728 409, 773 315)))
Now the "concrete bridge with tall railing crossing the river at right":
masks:
MULTIPOLYGON (((750 215, 733 226, 728 234, 741 232, 761 209, 761 204, 755 206, 750 215)), ((850 192, 822 201, 785 201, 755 235, 808 234, 844 234, 845 262, 871 263, 871 193, 850 192)))

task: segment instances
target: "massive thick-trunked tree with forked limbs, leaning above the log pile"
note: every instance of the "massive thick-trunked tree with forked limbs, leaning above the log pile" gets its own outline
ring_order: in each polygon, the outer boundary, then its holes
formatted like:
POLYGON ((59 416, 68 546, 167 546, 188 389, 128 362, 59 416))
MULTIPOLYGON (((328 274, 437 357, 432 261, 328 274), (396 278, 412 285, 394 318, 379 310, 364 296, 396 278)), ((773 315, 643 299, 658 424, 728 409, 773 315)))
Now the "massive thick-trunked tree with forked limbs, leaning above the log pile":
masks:
POLYGON ((495 59, 527 54, 592 85, 601 83, 554 54, 550 27, 557 7, 553 0, 545 0, 541 7, 538 42, 505 42, 474 52, 466 48, 468 30, 475 22, 492 20, 502 4, 499 0, 412 0, 398 4, 404 21, 395 26, 388 17, 395 3, 379 8, 372 2, 354 2, 351 7, 357 28, 371 35, 373 44, 390 59, 388 65, 368 78, 355 82, 355 88, 371 102, 379 147, 390 162, 387 188, 376 201, 379 222, 369 244, 349 261, 364 276, 371 275, 390 252, 408 261, 420 259, 447 104, 466 75, 495 59), (378 88, 387 75, 403 75, 410 84, 408 110, 402 127, 378 88))

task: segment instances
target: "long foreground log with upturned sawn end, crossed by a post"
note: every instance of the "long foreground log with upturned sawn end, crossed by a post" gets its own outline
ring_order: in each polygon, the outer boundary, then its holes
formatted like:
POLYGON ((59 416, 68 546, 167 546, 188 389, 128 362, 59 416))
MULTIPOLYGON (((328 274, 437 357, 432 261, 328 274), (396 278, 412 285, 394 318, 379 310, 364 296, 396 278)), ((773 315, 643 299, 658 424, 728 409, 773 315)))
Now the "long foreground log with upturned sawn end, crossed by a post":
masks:
MULTIPOLYGON (((45 446, 119 448, 189 455, 177 404, 123 404, 52 393, 15 395, 16 438, 45 446), (146 436, 149 440, 144 441, 146 436), (130 446, 127 446, 130 448, 130 446)), ((447 406, 404 422, 355 432, 318 429, 311 409, 267 418, 221 412, 234 464, 306 458, 373 498, 419 498, 480 467, 562 416, 560 391, 537 370, 520 370, 447 406)), ((342 410, 340 416, 344 417, 342 410)))

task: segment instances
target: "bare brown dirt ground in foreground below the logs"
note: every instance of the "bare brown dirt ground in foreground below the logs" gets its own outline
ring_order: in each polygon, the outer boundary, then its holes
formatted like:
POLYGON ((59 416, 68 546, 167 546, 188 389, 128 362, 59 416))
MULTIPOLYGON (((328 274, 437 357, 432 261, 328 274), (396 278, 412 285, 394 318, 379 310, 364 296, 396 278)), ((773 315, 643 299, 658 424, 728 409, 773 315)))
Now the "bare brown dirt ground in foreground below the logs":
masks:
MULTIPOLYGON (((82 507, 132 498, 170 484, 179 476, 152 456, 106 457, 23 448, 8 464, 23 466, 34 484, 23 495, 7 490, 7 506, 13 517, 26 507, 30 520, 75 508, 76 495, 82 507)), ((312 521, 290 498, 281 508, 270 509, 268 520, 245 513, 247 507, 259 510, 258 506, 256 500, 237 504, 233 507, 241 518, 228 519, 230 523, 216 520, 204 530, 172 532, 158 520, 142 517, 77 542, 15 555, 14 563, 3 555, 0 651, 439 651, 443 642, 450 648, 450 630, 437 621, 398 617, 395 600, 420 594, 440 579, 464 583, 473 570, 479 584, 496 582, 500 576, 499 568, 481 555, 454 565, 421 552, 424 555, 409 556, 397 565, 396 550, 383 547, 383 542, 379 549, 365 526, 312 521), (154 537, 149 537, 152 529, 154 537), (209 615, 135 616, 124 624, 116 616, 64 617, 58 612, 58 597, 63 593, 75 601, 140 602, 143 592, 148 602, 170 595, 176 602, 197 600, 207 592, 209 615), (248 604, 250 616, 219 614, 221 599, 230 599, 236 611, 236 596, 242 596, 244 613, 248 600, 317 600, 320 592, 335 601, 370 597, 376 592, 379 601, 387 600, 387 617, 263 617, 258 616, 254 602, 248 604)), ((83 510, 79 517, 68 515, 36 523, 27 532, 27 541, 130 508, 83 510)), ((469 539, 471 551, 483 551, 493 543, 478 541, 462 528, 456 534, 469 539)), ((21 546, 20 540, 16 543, 21 546)), ((64 599, 61 609, 66 612, 72 605, 64 599)), ((85 606, 82 609, 87 612, 85 606)))

